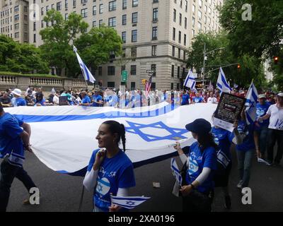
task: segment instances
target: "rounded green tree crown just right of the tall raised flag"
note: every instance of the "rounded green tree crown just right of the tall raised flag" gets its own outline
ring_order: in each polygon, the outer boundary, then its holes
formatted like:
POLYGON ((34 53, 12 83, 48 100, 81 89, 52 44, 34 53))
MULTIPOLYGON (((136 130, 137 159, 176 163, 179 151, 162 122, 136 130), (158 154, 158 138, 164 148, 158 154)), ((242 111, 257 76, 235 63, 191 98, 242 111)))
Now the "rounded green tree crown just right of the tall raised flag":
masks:
POLYGON ((122 40, 113 28, 100 26, 81 35, 74 41, 79 54, 87 66, 97 69, 122 54, 122 40))

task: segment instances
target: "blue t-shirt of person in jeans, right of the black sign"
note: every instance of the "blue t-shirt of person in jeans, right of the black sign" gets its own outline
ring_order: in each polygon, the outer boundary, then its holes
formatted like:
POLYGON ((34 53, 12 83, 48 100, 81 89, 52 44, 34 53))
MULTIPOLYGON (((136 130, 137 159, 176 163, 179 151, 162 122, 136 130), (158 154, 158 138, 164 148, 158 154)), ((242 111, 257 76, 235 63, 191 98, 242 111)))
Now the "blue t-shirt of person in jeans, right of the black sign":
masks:
POLYGON ((255 149, 255 141, 253 139, 253 131, 255 130, 255 124, 248 125, 246 121, 238 121, 238 132, 245 133, 246 137, 243 139, 243 143, 236 145, 237 150, 251 150, 255 149))

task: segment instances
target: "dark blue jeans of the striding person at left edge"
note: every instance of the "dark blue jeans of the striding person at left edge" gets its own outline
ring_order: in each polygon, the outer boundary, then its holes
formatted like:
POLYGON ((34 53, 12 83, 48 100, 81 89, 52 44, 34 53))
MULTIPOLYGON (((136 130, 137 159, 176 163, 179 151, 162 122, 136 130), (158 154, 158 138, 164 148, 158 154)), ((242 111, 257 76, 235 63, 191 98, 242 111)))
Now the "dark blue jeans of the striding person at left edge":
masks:
POLYGON ((10 197, 11 185, 14 178, 18 178, 28 192, 31 188, 36 187, 33 180, 23 167, 16 167, 8 163, 6 159, 1 163, 1 179, 0 179, 0 212, 6 212, 8 199, 10 197))

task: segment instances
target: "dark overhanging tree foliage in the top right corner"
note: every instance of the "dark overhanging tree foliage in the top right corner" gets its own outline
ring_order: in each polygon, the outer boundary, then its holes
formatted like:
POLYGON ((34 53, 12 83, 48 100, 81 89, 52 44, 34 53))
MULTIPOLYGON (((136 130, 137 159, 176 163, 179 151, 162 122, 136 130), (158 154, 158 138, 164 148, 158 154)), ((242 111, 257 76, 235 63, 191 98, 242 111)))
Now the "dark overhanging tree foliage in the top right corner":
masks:
POLYGON ((219 13, 219 21, 228 32, 236 56, 272 58, 279 52, 283 37, 282 1, 227 0, 219 13), (250 4, 252 20, 243 20, 244 4, 250 4))

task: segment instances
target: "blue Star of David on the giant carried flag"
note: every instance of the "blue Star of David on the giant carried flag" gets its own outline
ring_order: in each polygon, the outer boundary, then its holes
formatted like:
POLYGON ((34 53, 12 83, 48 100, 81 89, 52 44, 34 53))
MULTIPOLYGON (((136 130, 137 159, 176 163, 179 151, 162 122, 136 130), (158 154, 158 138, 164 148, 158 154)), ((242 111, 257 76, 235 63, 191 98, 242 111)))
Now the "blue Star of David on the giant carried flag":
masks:
POLYGON ((135 133, 139 135, 144 141, 152 142, 152 141, 162 141, 162 140, 179 140, 185 139, 185 136, 182 136, 184 133, 187 133, 186 129, 178 129, 178 128, 171 128, 163 124, 162 121, 155 122, 153 124, 139 124, 132 121, 127 121, 129 124, 128 127, 125 127, 128 133, 135 133), (154 134, 149 134, 146 132, 141 131, 142 129, 151 128, 151 129, 161 129, 161 135, 157 136, 154 134), (162 131, 163 130, 163 131, 162 131), (163 132, 163 136, 162 136, 163 132), (165 133, 169 133, 166 135, 165 133))

